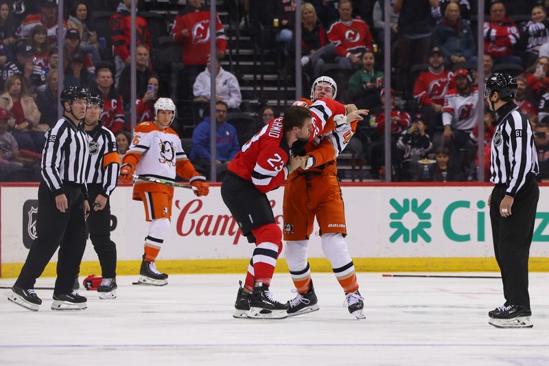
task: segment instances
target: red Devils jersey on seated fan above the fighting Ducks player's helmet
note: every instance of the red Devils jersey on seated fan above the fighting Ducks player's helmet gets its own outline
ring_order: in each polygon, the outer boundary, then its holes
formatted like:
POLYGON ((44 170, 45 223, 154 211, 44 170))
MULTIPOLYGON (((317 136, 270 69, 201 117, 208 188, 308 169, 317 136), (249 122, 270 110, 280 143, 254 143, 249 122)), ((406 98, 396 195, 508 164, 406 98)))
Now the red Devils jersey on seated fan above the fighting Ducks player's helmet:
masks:
POLYGON ((342 57, 349 54, 359 57, 366 48, 372 47, 372 34, 368 25, 360 19, 336 21, 328 30, 328 39, 336 45, 336 53, 342 57))

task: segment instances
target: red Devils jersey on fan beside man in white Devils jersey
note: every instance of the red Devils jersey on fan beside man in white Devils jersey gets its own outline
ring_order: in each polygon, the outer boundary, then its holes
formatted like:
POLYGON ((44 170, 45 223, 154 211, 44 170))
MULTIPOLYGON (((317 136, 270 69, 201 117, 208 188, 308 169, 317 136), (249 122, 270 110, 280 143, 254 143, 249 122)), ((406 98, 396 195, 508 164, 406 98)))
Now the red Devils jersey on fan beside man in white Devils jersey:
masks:
POLYGON ((440 73, 423 71, 419 74, 414 85, 414 98, 421 106, 431 106, 434 104, 443 105, 444 97, 448 89, 454 87, 452 73, 443 69, 440 73))

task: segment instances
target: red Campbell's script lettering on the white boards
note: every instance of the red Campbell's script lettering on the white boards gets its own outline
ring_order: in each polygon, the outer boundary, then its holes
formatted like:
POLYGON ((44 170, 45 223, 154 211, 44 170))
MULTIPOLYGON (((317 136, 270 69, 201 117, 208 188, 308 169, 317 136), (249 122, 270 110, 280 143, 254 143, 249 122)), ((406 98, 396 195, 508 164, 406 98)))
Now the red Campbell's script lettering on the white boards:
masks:
MULTIPOLYGON (((274 209, 276 201, 270 200, 270 207, 274 209)), ((183 201, 176 200, 176 208, 180 209, 176 223, 178 236, 222 236, 233 238, 233 244, 238 244, 242 231, 236 220, 230 214, 211 214, 202 209, 203 203, 198 199, 183 205, 183 201)), ((228 210, 227 210, 228 211, 228 210)), ((282 215, 274 216, 278 224, 282 222, 282 215)))

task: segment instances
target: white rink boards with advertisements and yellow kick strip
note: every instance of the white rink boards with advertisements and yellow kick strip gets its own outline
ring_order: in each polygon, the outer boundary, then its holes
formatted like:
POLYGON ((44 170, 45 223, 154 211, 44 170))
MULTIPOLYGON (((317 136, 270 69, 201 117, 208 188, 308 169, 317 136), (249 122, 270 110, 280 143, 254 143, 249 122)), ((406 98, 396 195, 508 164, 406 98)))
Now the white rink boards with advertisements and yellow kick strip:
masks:
MULTIPOLYGON (((36 238, 37 192, 36 185, 0 188, 2 277, 19 273, 36 238)), ((344 185, 346 240, 355 266, 359 271, 497 270, 486 205, 490 192, 489 185, 344 185)), ((282 222, 283 189, 268 196, 281 228, 291 230, 292 222, 282 222)), ((110 205, 117 272, 135 274, 148 229, 143 205, 132 201, 131 187, 118 187, 110 205)), ((170 268, 168 273, 242 272, 252 250, 224 206, 219 186, 211 187, 203 198, 190 190, 175 190, 172 227, 159 255, 159 265, 170 268)), ((548 186, 540 187, 530 255, 531 270, 549 271, 548 186)), ((330 271, 329 263, 320 259, 316 226, 309 258, 317 271, 330 271)), ((82 273, 100 273, 91 242, 83 261, 82 273)), ((54 265, 48 266, 45 275, 54 273, 54 265)))

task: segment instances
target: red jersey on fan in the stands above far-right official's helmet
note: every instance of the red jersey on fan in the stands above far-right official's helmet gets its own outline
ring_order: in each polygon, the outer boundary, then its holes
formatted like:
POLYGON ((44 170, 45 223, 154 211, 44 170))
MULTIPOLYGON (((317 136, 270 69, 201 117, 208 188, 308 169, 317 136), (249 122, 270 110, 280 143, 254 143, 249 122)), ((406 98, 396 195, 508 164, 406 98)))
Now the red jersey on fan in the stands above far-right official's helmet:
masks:
POLYGON ((484 51, 493 58, 513 54, 513 46, 519 40, 519 30, 511 19, 505 17, 496 22, 484 22, 484 51))

